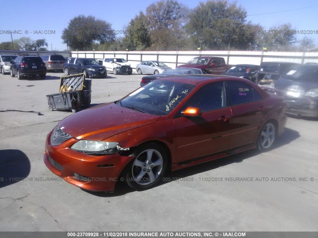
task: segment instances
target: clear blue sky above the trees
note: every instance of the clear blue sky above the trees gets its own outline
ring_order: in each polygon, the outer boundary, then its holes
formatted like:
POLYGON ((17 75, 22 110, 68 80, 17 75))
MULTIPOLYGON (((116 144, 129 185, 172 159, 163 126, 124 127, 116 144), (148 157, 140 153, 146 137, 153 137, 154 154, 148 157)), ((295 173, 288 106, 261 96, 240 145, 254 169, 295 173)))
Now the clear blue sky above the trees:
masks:
MULTIPOLYGON (((114 30, 120 31, 135 15, 140 11, 145 12, 147 6, 156 0, 32 0, 27 2, 0 0, 0 2, 2 3, 0 43, 11 41, 11 36, 7 32, 12 30, 16 32, 12 35, 13 40, 20 37, 30 37, 32 40, 45 38, 49 50, 52 48, 63 51, 66 50, 66 45, 62 43, 62 31, 75 16, 93 15, 111 23, 114 30)), ((200 1, 180 0, 179 2, 193 8, 200 1)), ((237 3, 246 9, 247 20, 252 23, 259 23, 267 29, 271 26, 291 23, 299 31, 296 35, 298 39, 306 36, 314 39, 315 44, 318 45, 318 34, 316 34, 318 24, 315 20, 318 14, 317 0, 238 0, 237 3), (314 31, 315 34, 304 34, 305 31, 314 31)))

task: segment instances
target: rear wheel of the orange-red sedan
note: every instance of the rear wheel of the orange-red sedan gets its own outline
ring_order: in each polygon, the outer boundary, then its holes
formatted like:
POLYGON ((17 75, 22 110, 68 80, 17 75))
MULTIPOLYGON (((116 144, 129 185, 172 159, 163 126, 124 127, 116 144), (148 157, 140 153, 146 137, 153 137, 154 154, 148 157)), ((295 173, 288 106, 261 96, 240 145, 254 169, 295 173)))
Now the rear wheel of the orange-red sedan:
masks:
POLYGON ((273 148, 276 140, 276 126, 272 121, 267 121, 257 137, 257 148, 261 152, 269 151, 273 148))

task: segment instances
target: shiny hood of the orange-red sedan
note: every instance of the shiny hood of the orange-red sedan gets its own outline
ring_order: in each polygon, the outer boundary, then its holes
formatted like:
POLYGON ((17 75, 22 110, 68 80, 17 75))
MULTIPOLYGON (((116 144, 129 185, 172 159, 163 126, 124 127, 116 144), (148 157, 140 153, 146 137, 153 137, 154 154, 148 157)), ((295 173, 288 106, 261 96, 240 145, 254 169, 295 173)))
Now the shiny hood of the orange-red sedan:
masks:
POLYGON ((154 123, 159 118, 157 115, 107 103, 73 114, 63 119, 59 126, 78 139, 104 140, 127 130, 154 123))

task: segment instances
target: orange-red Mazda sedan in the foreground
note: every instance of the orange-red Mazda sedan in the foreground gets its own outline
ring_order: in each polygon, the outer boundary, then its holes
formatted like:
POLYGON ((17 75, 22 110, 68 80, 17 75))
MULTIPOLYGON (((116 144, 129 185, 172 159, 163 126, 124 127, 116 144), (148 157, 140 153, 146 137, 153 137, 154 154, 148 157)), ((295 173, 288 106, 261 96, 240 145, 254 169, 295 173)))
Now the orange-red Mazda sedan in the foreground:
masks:
POLYGON ((63 119, 47 136, 44 162, 83 189, 113 191, 117 180, 148 189, 168 169, 271 149, 285 107, 247 79, 164 77, 63 119))

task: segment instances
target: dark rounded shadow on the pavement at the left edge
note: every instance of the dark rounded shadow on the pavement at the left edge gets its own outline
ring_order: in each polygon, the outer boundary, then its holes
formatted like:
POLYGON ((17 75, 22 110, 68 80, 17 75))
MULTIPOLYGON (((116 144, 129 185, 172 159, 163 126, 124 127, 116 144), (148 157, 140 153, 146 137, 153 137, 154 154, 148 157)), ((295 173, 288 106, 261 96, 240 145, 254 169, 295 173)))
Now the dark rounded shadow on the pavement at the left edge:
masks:
POLYGON ((30 160, 22 151, 0 150, 0 188, 22 181, 30 170, 30 160))

